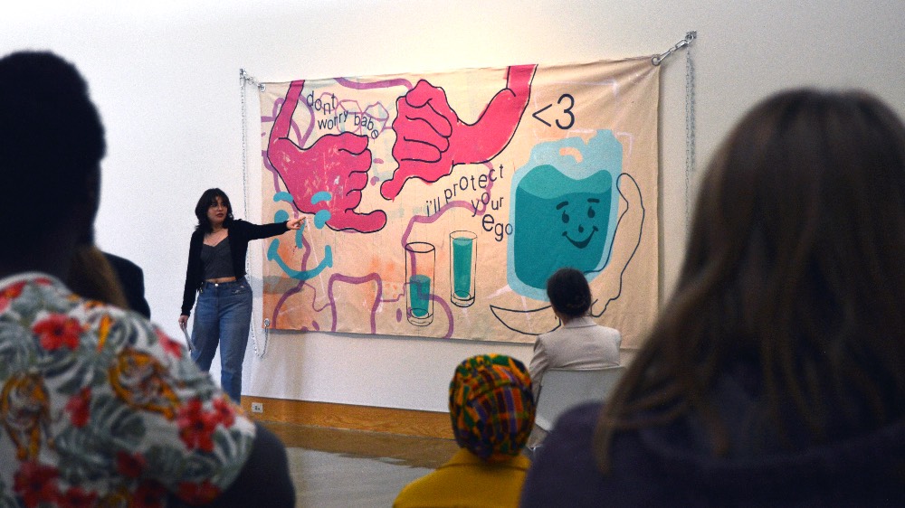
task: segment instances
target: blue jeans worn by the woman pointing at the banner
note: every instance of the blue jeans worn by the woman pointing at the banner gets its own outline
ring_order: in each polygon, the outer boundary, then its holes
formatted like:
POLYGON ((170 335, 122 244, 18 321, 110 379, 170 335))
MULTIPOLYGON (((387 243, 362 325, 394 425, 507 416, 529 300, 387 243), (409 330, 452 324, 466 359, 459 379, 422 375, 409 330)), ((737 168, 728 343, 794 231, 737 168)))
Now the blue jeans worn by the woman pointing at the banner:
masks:
POLYGON ((202 371, 210 371, 219 344, 220 384, 237 404, 242 397, 242 362, 251 324, 252 287, 245 278, 201 285, 192 327, 192 360, 202 371))

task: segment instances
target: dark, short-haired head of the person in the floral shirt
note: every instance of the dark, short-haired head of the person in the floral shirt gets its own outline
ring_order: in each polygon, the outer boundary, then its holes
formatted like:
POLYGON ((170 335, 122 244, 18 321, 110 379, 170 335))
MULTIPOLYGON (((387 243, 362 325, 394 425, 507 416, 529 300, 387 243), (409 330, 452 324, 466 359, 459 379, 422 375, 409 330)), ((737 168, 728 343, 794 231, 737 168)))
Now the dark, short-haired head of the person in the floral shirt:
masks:
POLYGON ((79 71, 51 52, 0 59, 0 223, 14 259, 60 230, 90 236, 104 127, 79 71), (78 230, 78 231, 73 231, 78 230))

